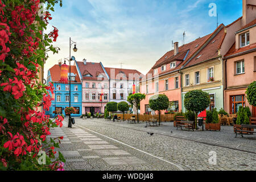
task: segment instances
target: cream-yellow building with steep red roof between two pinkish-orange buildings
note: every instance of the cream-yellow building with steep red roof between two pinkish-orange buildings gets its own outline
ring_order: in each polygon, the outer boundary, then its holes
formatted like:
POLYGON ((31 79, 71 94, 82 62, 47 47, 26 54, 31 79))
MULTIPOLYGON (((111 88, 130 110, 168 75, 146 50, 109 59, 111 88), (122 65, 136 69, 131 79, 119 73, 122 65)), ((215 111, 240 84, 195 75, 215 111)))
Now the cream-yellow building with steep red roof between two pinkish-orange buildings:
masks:
POLYGON ((207 110, 224 108, 223 101, 223 60, 220 47, 225 36, 224 24, 221 24, 181 68, 182 110, 185 93, 191 90, 203 90, 209 93, 210 105, 207 110))

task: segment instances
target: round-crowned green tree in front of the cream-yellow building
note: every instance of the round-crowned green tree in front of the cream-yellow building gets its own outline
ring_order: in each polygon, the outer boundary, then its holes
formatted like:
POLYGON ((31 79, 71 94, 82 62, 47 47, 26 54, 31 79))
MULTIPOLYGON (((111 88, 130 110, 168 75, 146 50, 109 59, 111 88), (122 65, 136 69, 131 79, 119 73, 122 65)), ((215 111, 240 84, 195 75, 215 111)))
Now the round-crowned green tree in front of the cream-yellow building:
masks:
POLYGON ((196 115, 196 129, 197 129, 197 115, 207 109, 210 105, 210 97, 207 92, 202 90, 192 90, 185 94, 184 106, 185 109, 195 112, 196 115))

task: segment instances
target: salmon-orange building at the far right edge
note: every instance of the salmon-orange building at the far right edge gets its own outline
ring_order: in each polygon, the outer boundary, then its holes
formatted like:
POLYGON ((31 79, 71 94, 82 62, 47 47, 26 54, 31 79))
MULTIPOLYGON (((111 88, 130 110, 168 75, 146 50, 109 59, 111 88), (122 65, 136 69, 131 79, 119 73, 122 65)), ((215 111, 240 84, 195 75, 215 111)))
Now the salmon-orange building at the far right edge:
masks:
POLYGON ((256 116, 256 107, 249 105, 245 94, 247 86, 256 80, 256 19, 236 31, 235 36, 236 42, 224 57, 225 110, 233 114, 240 106, 249 106, 256 116))

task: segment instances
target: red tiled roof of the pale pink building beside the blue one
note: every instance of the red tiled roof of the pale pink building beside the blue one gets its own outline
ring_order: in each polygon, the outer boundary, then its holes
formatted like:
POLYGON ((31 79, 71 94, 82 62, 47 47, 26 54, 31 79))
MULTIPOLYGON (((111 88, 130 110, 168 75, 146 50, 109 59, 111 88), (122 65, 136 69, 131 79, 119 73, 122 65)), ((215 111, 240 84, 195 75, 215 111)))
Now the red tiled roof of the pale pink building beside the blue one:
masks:
POLYGON ((90 63, 77 61, 77 66, 80 69, 80 73, 82 74, 82 80, 102 80, 102 78, 98 78, 98 75, 102 75, 106 77, 106 74, 100 63, 90 63), (84 75, 90 74, 92 77, 85 77, 84 75))

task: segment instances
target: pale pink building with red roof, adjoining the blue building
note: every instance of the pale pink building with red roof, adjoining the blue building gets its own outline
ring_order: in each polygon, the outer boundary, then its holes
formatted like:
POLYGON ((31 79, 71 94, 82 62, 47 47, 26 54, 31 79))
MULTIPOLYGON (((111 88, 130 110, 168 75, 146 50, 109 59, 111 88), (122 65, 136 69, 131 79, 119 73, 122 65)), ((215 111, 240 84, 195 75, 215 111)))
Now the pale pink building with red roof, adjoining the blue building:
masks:
POLYGON ((82 114, 104 113, 109 102, 109 76, 102 63, 90 63, 84 59, 75 61, 75 65, 82 80, 82 114))

